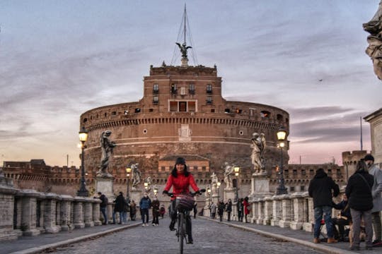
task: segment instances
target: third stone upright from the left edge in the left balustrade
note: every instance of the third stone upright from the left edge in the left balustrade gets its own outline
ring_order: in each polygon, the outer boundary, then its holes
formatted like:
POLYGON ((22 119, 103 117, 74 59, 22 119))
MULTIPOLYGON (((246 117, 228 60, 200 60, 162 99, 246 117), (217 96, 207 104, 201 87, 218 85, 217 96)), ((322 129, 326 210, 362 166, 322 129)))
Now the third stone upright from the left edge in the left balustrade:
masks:
POLYGON ((45 194, 45 202, 43 206, 43 226, 46 233, 54 234, 59 231, 56 226, 56 202, 59 195, 54 193, 45 194))

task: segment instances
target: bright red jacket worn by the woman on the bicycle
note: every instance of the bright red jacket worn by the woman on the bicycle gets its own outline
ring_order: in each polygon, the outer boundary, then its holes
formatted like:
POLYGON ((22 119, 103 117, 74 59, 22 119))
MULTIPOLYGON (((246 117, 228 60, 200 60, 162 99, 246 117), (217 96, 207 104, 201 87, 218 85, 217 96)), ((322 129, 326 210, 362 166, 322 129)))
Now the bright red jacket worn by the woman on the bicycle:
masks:
POLYGON ((188 176, 185 176, 184 174, 179 174, 177 177, 174 177, 172 174, 168 176, 166 186, 163 191, 170 191, 171 186, 173 186, 173 198, 171 200, 174 200, 176 198, 176 195, 182 194, 182 193, 190 193, 189 187, 191 186, 194 191, 199 191, 199 188, 197 188, 197 184, 195 183, 194 176, 192 174, 189 174, 188 176))

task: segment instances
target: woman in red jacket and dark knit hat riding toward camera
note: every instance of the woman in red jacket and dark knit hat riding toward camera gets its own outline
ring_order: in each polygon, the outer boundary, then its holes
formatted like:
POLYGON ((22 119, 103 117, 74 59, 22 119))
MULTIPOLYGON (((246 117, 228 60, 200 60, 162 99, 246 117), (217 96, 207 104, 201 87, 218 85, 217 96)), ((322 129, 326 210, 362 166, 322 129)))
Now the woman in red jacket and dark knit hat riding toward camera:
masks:
MULTIPOLYGON (((199 188, 195 183, 194 176, 187 171, 187 165, 185 164, 185 159, 179 157, 176 159, 173 171, 171 171, 170 176, 168 176, 166 186, 163 190, 163 194, 168 194, 171 186, 173 187, 173 197, 171 197, 170 204, 170 230, 175 230, 175 220, 176 220, 176 209, 175 209, 175 199, 176 195, 190 193, 189 187, 191 186, 195 193, 199 194, 199 188)), ((193 243, 192 240, 192 225, 190 211, 187 212, 186 216, 186 234, 188 236, 187 243, 193 243)))

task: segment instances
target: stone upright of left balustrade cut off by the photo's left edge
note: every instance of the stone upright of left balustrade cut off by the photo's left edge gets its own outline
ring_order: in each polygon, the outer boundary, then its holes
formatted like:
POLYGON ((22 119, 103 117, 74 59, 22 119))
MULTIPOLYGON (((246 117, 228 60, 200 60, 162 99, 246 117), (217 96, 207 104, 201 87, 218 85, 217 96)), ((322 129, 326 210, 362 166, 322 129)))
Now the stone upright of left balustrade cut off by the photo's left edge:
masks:
POLYGON ((21 234, 21 231, 13 230, 16 192, 17 189, 13 188, 11 179, 0 176, 0 241, 14 240, 21 234))

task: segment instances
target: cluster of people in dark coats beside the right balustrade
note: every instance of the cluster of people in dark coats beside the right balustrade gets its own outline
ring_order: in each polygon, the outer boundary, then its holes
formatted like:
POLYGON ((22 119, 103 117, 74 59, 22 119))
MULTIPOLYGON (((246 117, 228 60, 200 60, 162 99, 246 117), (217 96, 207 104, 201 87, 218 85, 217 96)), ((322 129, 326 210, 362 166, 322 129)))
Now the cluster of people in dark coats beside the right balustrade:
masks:
POLYGON ((325 224, 327 243, 349 241, 350 250, 360 250, 361 235, 364 234, 366 250, 382 246, 382 171, 374 164, 372 155, 357 162, 356 171, 349 177, 339 203, 332 201, 340 193, 339 186, 323 169, 316 171, 308 193, 313 198, 313 243, 322 241, 319 236, 325 224), (332 217, 332 208, 340 210, 335 217, 332 217), (345 230, 347 225, 349 229, 345 230))

